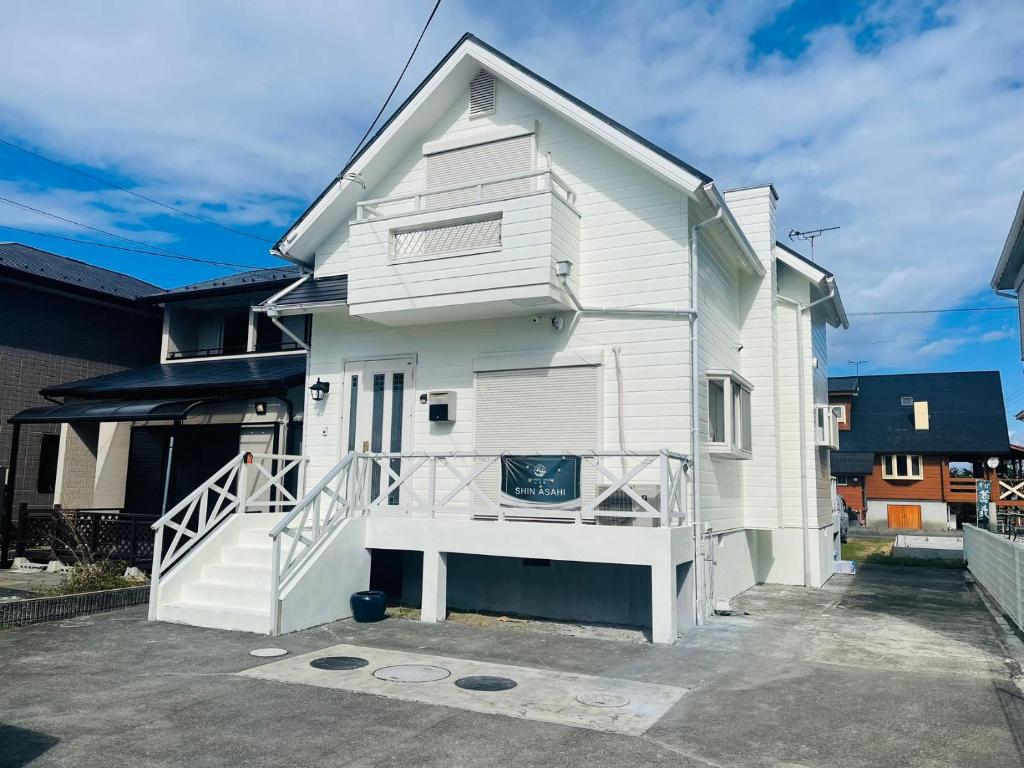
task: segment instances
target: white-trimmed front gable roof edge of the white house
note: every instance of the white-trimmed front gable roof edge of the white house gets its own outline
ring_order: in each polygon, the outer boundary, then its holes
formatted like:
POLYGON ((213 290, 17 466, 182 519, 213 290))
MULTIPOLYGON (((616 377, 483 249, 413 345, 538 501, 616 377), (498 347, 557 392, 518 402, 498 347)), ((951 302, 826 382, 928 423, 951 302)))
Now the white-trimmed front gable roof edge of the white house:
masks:
MULTIPOLYGON (((346 212, 362 197, 362 184, 346 176, 357 176, 367 186, 373 186, 441 117, 481 68, 509 87, 529 93, 556 115, 616 152, 628 155, 690 197, 707 200, 713 207, 724 206, 710 176, 467 33, 342 168, 271 253, 310 264, 315 248, 343 222, 346 212), (392 144, 393 148, 389 148, 392 144)), ((725 211, 726 225, 739 243, 750 262, 749 267, 755 273, 762 273, 763 267, 753 248, 727 207, 725 211)))

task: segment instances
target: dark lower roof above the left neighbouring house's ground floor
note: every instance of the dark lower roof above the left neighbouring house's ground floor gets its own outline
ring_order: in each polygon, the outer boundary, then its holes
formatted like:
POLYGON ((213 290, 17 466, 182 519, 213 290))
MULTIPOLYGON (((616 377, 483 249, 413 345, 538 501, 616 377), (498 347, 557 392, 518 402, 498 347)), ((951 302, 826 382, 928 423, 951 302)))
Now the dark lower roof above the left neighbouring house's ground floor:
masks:
POLYGON ((182 397, 269 392, 302 383, 304 354, 146 366, 43 390, 51 397, 182 397))

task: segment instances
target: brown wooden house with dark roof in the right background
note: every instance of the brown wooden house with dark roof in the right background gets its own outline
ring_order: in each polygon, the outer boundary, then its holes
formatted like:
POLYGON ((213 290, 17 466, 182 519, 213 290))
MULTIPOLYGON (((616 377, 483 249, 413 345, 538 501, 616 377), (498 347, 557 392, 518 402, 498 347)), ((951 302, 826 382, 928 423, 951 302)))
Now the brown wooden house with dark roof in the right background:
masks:
POLYGON ((1017 454, 998 372, 834 377, 828 399, 840 429, 837 489, 869 525, 956 528, 974 519, 978 480, 991 482, 1001 511, 1024 504, 1009 481, 1017 454))

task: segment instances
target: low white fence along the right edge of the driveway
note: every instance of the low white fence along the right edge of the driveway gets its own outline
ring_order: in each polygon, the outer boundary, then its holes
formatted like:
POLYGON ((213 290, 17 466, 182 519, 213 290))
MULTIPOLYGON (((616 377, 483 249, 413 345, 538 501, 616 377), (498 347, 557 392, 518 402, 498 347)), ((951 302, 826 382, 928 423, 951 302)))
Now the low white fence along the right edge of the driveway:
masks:
POLYGON ((964 559, 1002 611, 1024 627, 1024 543, 966 524, 964 559))

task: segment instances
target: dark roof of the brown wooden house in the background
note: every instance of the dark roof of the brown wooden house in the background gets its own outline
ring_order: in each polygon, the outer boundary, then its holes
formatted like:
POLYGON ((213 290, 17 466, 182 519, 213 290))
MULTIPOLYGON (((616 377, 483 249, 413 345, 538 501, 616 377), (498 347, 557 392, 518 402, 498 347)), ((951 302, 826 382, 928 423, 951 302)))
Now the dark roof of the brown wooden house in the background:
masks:
MULTIPOLYGON (((835 391, 829 379, 829 391, 835 391)), ((843 452, 1007 454, 1010 438, 997 371, 860 376, 843 452), (927 401, 929 428, 914 429, 913 406, 927 401)))

